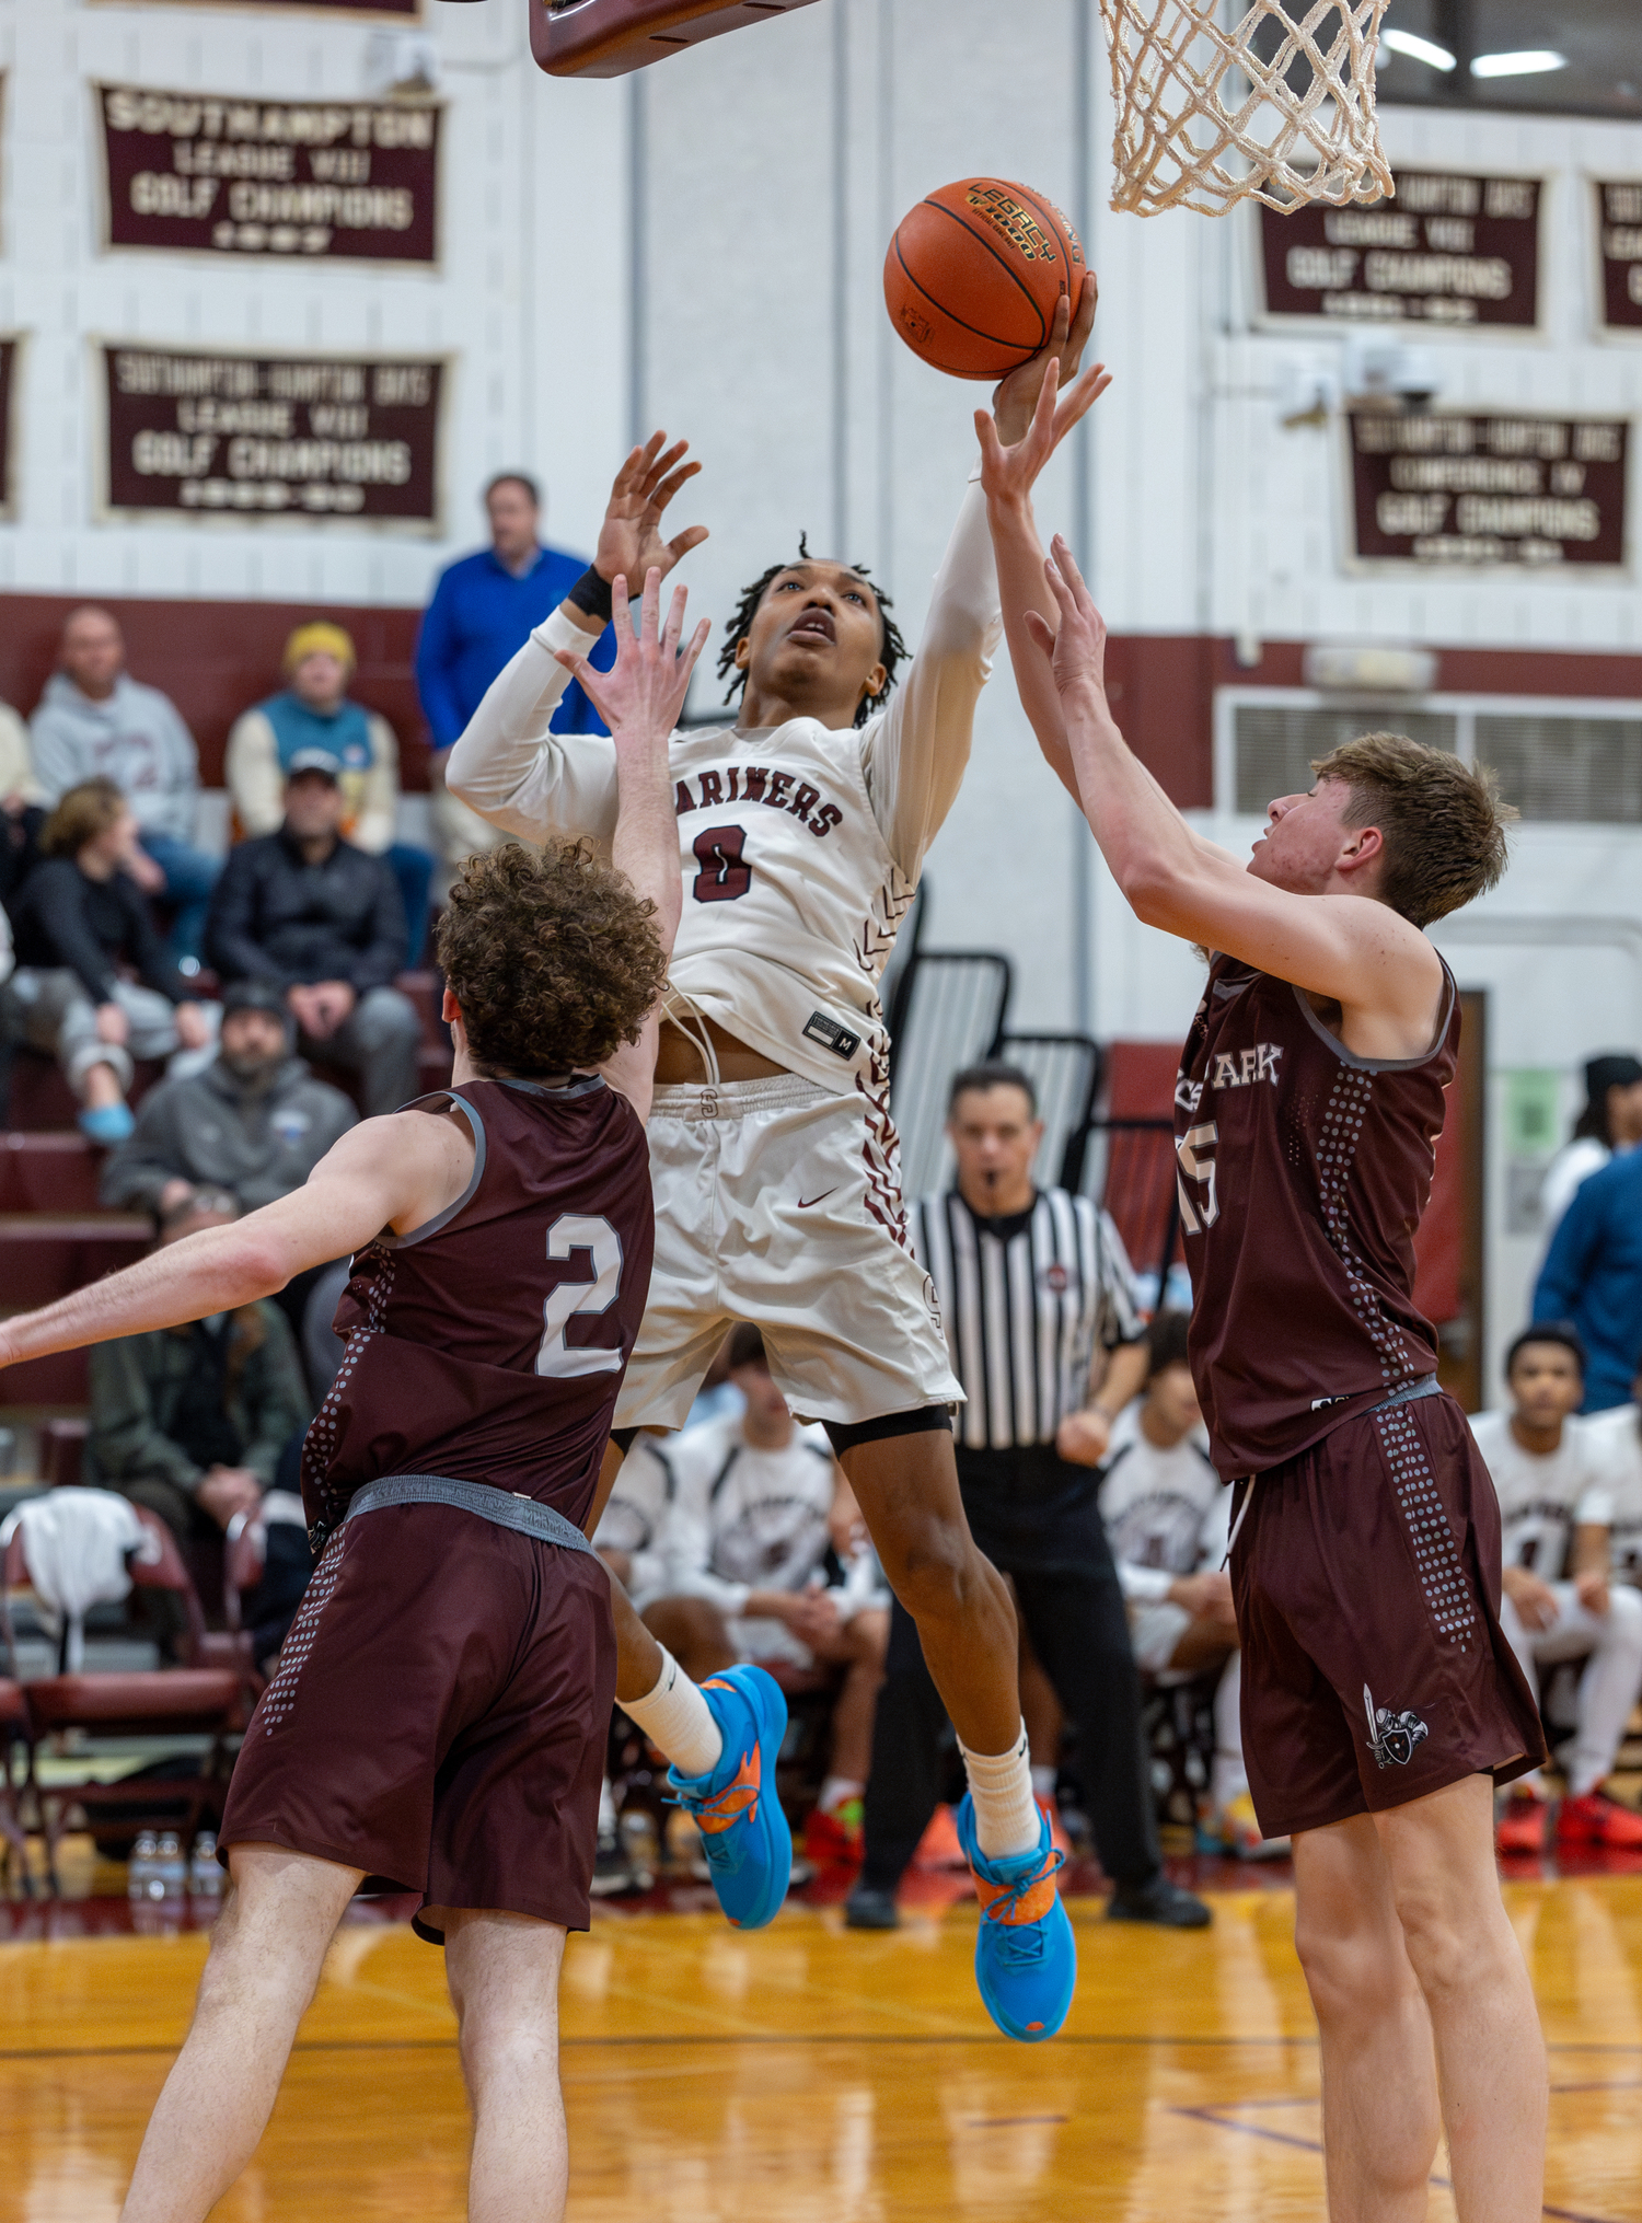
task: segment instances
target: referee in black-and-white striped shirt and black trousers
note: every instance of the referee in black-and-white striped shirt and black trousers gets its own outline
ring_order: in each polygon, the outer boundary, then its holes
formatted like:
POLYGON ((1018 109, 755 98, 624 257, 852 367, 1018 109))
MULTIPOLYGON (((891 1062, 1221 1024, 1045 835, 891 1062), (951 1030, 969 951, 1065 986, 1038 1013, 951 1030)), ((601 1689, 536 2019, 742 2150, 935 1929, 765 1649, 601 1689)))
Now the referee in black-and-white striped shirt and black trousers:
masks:
MULTIPOLYGON (((911 1225, 969 1398, 958 1414, 964 1512, 980 1549, 1013 1576, 1033 1649, 1078 1729, 1095 1847, 1115 1885, 1109 1918, 1200 1930, 1209 1907, 1162 1872, 1140 1674, 1095 1503, 1111 1423, 1147 1374, 1129 1258, 1089 1198, 1033 1185, 1042 1123, 1027 1074, 958 1074, 947 1134, 958 1187, 924 1198, 911 1225)), ((918 1627, 895 1605, 851 1930, 895 1927, 895 1887, 940 1798, 944 1721, 918 1627)))

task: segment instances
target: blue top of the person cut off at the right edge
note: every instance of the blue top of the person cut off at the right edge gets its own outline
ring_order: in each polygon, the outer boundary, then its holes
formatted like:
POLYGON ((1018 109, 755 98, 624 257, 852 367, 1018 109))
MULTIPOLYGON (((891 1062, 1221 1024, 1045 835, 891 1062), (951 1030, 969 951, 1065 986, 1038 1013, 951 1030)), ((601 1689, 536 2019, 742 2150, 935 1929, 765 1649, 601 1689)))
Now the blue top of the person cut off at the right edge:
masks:
POLYGON ((1642 1358, 1642 1149, 1575 1189, 1540 1267, 1533 1318, 1573 1320, 1584 1336, 1584 1412, 1629 1405, 1642 1358))

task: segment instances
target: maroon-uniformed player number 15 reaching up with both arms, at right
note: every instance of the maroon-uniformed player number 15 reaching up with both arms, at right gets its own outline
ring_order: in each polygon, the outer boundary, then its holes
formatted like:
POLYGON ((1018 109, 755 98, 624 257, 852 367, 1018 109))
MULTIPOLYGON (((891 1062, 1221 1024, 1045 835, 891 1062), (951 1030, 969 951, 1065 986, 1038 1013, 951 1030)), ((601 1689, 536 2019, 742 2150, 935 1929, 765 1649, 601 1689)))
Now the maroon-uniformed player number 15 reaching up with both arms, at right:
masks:
POLYGON ((1460 1038, 1420 929, 1500 878, 1504 814, 1453 756, 1373 734, 1271 805, 1246 865, 1193 834, 1118 731, 1071 551, 1038 545, 1049 385, 1013 451, 980 427, 982 482, 1044 756, 1135 914, 1215 951, 1175 1089, 1191 1367, 1240 1485, 1244 1756, 1260 1827, 1293 1834, 1329 2207, 1422 2216, 1446 2130, 1460 2223, 1529 2223, 1546 2065, 1493 1785, 1544 1745, 1493 1487, 1409 1294, 1460 1038))

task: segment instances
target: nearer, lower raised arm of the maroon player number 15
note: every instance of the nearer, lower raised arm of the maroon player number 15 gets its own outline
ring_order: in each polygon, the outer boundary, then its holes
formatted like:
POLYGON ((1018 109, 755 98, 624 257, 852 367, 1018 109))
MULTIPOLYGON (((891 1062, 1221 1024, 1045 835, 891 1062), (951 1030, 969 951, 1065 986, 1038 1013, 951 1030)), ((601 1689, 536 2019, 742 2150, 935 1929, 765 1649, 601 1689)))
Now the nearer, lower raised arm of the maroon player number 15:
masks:
MULTIPOLYGON (((1335 851, 1320 854, 1318 887, 1295 891, 1193 834, 1118 731, 1104 680, 1107 627, 1060 536, 1044 578, 1060 627, 1027 611, 1027 634, 1053 669, 1084 818, 1133 914, 1338 1003, 1340 1040, 1358 1056, 1422 1056, 1444 983, 1424 934, 1369 894, 1331 887, 1324 896, 1322 885, 1338 876, 1335 851)), ((1355 865, 1378 854, 1378 829, 1362 827, 1355 865)))

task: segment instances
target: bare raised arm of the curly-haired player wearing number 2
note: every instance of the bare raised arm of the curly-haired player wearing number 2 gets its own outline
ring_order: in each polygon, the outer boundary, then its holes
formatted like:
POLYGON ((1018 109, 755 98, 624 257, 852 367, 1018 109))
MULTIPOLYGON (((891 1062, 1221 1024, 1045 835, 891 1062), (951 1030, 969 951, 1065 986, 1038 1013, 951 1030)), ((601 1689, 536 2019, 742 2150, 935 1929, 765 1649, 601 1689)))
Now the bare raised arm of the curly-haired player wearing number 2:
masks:
MULTIPOLYGON (((627 580, 618 576, 613 587, 615 665, 609 671, 595 671, 587 656, 567 654, 562 658, 564 669, 575 674, 589 702, 611 729, 609 747, 615 756, 620 796, 611 863, 655 907, 655 934, 669 958, 684 909, 684 880, 678 865, 678 818, 673 814, 673 782, 667 771, 667 745, 709 634, 707 618, 702 618, 689 645, 680 649, 687 600, 684 589, 675 587, 667 631, 658 631, 662 574, 660 567, 651 567, 644 578, 640 627, 633 634, 627 580)), ((631 1100, 640 1118, 649 1118, 655 1087, 660 1023, 658 1005, 644 1020, 640 1038, 624 1043, 604 1065, 604 1078, 631 1100)))

